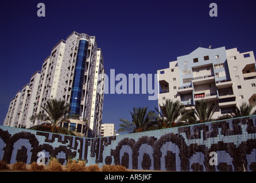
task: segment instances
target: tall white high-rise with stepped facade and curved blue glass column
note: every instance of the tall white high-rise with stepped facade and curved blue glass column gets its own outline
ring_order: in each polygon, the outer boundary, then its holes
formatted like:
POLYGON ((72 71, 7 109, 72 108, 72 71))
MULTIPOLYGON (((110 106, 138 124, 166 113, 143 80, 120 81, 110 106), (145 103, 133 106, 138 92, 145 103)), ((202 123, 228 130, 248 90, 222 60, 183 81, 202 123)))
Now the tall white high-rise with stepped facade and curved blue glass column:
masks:
MULTIPOLYGON (((30 83, 11 100, 3 125, 26 126, 42 124, 30 121, 49 98, 67 101, 76 119, 60 124, 85 137, 100 136, 104 98, 104 67, 101 49, 94 36, 75 31, 66 41, 53 47, 42 63, 41 71, 32 75, 30 83)), ((73 115, 74 116, 74 115, 73 115)))

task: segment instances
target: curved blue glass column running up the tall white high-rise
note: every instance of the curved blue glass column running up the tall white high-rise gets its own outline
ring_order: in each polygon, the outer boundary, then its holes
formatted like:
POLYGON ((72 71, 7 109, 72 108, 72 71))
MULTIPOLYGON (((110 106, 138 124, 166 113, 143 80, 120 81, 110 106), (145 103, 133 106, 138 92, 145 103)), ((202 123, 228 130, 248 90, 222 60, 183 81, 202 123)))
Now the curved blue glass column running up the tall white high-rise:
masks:
POLYGON ((73 77, 73 86, 71 92, 70 110, 71 114, 79 115, 80 104, 83 90, 84 71, 86 70, 86 56, 88 41, 80 39, 76 55, 76 66, 73 77))

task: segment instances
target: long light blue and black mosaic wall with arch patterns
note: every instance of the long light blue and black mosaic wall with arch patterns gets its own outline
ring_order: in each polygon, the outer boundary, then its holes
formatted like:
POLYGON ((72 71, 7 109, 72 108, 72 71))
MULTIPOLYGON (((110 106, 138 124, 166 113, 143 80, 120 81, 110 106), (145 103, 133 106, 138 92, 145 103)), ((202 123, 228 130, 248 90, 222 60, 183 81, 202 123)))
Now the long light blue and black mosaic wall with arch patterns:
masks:
POLYGON ((256 171, 256 116, 180 128, 82 138, 0 126, 0 160, 30 164, 44 152, 65 165, 69 157, 86 165, 121 164, 127 169, 256 171), (216 165, 210 165, 216 152, 216 165))

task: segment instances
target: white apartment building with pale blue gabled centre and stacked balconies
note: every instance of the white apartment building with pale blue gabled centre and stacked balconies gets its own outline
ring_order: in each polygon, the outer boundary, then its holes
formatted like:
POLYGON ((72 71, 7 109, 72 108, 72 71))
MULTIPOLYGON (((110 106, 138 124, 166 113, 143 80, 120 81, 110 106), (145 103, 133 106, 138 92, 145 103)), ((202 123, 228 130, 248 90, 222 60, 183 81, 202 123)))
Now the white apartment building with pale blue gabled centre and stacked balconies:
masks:
POLYGON ((225 47, 197 48, 158 70, 158 105, 167 99, 179 100, 185 109, 196 101, 215 102, 213 118, 227 114, 247 102, 256 109, 256 65, 253 51, 239 53, 225 47))

